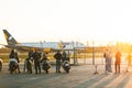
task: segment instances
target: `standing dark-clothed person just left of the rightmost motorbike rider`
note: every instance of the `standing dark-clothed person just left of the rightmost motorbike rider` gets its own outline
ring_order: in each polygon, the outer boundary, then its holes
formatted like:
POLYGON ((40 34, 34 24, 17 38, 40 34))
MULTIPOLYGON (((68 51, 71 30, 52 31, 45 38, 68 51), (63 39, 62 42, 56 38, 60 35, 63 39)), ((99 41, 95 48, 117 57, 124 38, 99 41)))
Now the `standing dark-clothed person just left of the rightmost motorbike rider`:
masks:
POLYGON ((54 55, 54 58, 56 59, 56 73, 61 73, 62 54, 59 51, 54 55))

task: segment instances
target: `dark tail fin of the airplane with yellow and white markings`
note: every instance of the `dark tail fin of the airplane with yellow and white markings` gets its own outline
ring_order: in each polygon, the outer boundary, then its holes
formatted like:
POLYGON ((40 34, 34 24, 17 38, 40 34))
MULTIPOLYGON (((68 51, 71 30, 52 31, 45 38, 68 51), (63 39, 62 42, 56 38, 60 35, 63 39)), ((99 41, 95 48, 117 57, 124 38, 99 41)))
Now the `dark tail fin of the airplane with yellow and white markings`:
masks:
POLYGON ((18 42, 14 40, 14 37, 7 30, 3 30, 3 34, 7 40, 8 45, 18 44, 18 42))

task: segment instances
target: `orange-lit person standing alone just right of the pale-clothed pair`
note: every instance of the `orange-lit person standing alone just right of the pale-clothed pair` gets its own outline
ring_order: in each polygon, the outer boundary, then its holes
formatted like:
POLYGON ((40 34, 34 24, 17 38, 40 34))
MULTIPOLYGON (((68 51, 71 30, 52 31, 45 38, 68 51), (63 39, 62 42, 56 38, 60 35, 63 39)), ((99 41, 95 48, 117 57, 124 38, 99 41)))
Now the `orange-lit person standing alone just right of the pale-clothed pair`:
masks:
POLYGON ((120 73, 120 64, 121 64, 121 53, 120 53, 120 51, 118 51, 117 53, 116 53, 116 74, 117 74, 117 72, 118 73, 120 73))

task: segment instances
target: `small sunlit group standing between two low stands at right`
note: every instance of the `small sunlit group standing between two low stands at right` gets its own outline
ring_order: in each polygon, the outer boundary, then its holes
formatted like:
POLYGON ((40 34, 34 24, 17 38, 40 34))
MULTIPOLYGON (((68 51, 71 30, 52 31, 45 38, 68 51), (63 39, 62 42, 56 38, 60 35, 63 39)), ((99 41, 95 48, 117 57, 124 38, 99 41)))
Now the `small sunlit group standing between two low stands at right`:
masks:
MULTIPOLYGON (((106 53, 103 54, 103 57, 106 58, 106 73, 112 73, 111 64, 112 64, 112 53, 110 50, 106 50, 106 53)), ((114 61, 114 69, 116 74, 120 73, 120 64, 121 64, 121 52, 118 51, 116 53, 116 61, 114 61)))

